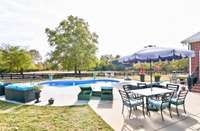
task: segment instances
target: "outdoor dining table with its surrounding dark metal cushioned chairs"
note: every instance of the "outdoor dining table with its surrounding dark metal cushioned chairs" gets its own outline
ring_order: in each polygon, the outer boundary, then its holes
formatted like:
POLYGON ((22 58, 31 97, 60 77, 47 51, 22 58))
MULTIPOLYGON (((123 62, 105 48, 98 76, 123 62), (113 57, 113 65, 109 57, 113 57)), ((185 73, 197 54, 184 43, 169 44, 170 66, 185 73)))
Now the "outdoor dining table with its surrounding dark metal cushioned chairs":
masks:
POLYGON ((119 93, 122 98, 123 106, 122 113, 124 111, 124 106, 129 108, 129 118, 133 110, 137 110, 138 106, 142 107, 143 115, 146 114, 150 116, 150 111, 161 112, 162 120, 163 110, 168 109, 169 115, 171 115, 172 106, 176 106, 176 112, 179 116, 178 106, 183 105, 185 110, 185 98, 187 96, 188 90, 179 90, 179 85, 167 84, 166 86, 156 86, 151 85, 148 87, 145 83, 138 83, 137 86, 134 85, 123 85, 123 90, 120 89, 119 93))

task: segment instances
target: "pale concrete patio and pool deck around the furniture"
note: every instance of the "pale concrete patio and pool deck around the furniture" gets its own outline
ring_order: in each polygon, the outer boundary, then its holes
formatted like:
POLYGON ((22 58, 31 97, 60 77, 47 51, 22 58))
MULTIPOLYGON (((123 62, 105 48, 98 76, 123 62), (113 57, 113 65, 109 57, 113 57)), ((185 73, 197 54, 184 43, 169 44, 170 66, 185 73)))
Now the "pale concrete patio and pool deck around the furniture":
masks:
MULTIPOLYGON (((100 85, 97 85, 100 86, 100 85)), ((78 87, 49 87, 43 88, 41 92, 41 102, 35 104, 47 105, 49 98, 54 98, 53 106, 70 106, 88 104, 101 118, 106 121, 116 131, 200 131, 200 94, 189 92, 186 98, 186 111, 183 113, 182 106, 179 107, 181 113, 177 117, 173 108, 173 118, 169 116, 168 110, 164 110, 165 121, 162 121, 160 112, 151 112, 151 116, 144 117, 140 108, 133 112, 131 119, 128 118, 128 111, 125 108, 122 114, 122 101, 118 93, 120 85, 113 89, 113 101, 102 101, 99 97, 92 97, 89 101, 78 101, 77 95, 80 92, 78 87)), ((5 100, 1 97, 0 100, 5 100)))

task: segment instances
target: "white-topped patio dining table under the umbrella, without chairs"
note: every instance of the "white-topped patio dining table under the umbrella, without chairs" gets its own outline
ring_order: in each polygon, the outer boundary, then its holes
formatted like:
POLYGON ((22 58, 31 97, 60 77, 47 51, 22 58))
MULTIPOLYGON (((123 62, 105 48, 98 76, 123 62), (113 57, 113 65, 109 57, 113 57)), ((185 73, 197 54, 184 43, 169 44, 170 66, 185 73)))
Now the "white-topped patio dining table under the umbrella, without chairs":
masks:
POLYGON ((156 96, 156 95, 162 95, 162 94, 166 94, 166 93, 173 93, 173 92, 174 92, 173 90, 159 88, 159 87, 132 90, 132 93, 146 97, 147 114, 149 113, 149 109, 148 109, 148 98, 149 97, 156 96))

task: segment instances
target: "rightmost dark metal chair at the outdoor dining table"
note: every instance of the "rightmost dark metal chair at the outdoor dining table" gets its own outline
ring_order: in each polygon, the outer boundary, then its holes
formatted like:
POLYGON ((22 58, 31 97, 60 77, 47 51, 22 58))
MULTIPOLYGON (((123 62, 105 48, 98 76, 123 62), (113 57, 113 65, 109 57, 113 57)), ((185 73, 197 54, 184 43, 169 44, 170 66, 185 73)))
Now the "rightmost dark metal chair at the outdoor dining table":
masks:
POLYGON ((185 110, 185 98, 188 94, 188 90, 180 90, 179 94, 177 97, 173 97, 170 101, 170 104, 175 105, 176 106, 176 113, 179 116, 179 112, 178 112, 178 106, 179 105, 183 105, 183 110, 186 114, 186 110, 185 110))

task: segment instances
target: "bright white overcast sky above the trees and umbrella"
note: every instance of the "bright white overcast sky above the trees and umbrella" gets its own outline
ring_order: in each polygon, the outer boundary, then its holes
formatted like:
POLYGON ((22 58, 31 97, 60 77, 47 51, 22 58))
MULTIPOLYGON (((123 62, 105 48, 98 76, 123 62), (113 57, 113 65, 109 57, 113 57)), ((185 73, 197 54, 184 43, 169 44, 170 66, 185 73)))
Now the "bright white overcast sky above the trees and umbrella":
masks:
POLYGON ((187 48, 180 41, 200 31, 199 0, 0 0, 0 44, 52 48, 45 28, 73 15, 98 38, 97 55, 130 55, 146 45, 187 48))

